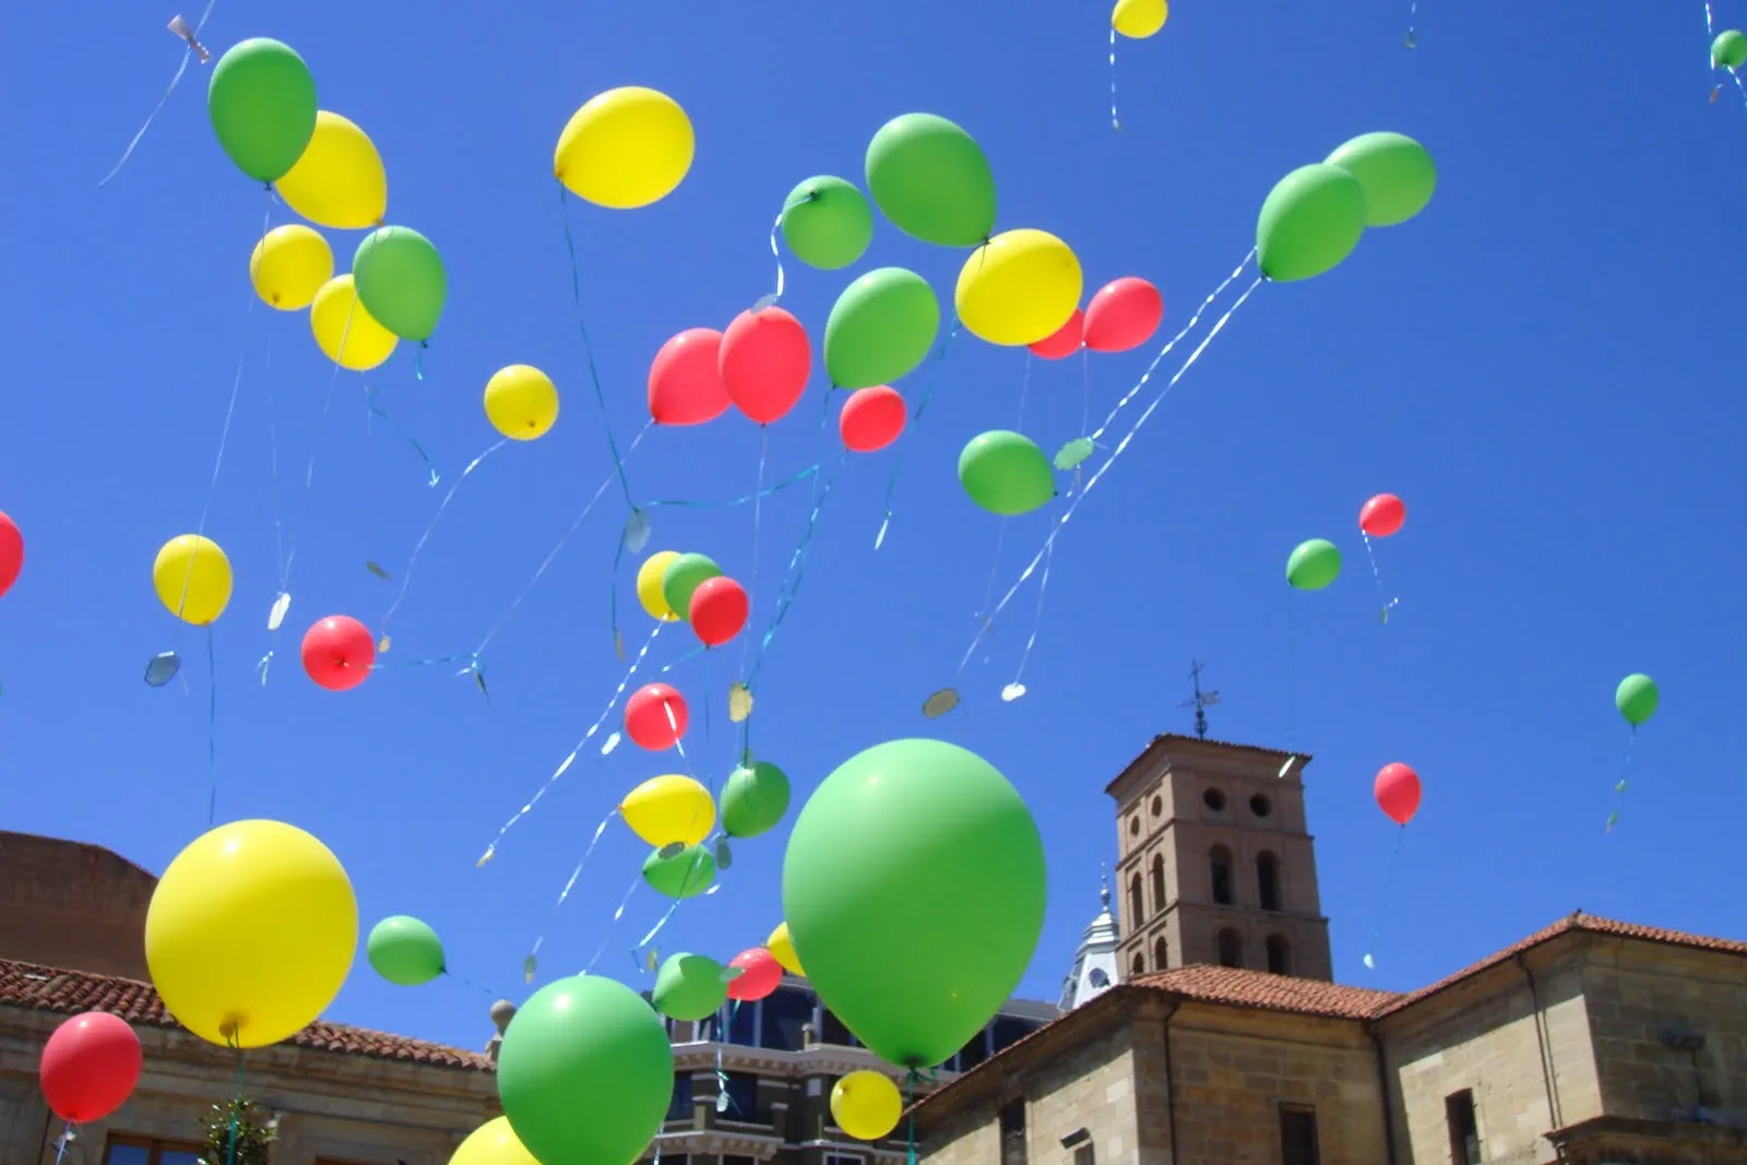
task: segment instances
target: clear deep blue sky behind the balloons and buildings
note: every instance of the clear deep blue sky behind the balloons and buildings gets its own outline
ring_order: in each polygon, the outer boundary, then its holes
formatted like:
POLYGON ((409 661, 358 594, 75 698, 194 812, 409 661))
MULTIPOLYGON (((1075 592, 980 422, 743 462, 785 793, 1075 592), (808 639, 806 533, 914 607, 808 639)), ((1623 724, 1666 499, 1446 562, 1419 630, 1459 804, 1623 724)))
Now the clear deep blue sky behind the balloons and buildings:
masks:
MULTIPOLYGON (((535 5, 489 17, 278 3, 245 19, 220 0, 204 40, 295 45, 323 108, 383 150, 390 220, 445 257, 451 297, 425 379, 404 349, 367 377, 381 407, 452 479, 494 440, 480 410, 493 370, 535 363, 564 402, 549 437, 496 454, 458 491, 386 667, 342 695, 300 674, 297 638, 328 613, 379 622, 395 589, 363 564, 398 578, 447 486, 426 487, 393 430, 367 433, 356 376, 341 377, 321 423, 330 370, 304 314, 245 311, 264 204, 211 136, 206 72, 190 72, 121 176, 94 189, 175 70, 164 17, 103 3, 0 44, 26 107, 0 122, 0 508, 30 552, 0 601, 7 828, 161 870, 206 826, 204 636, 157 604, 150 562, 199 520, 243 355, 206 524, 238 571, 215 629, 220 819, 314 831, 351 872, 367 922, 430 920, 451 966, 494 992, 522 994, 521 961, 542 931, 542 980, 580 969, 604 941, 597 969, 646 985, 629 948, 664 903, 643 889, 608 927, 643 854, 627 830, 608 830, 564 912, 550 912, 603 814, 669 765, 629 744, 606 760, 590 748, 500 858, 473 866, 624 671, 606 613, 624 507, 604 496, 526 592, 486 653, 489 702, 452 667, 407 665, 470 651, 610 470, 550 155, 582 101, 646 84, 694 119, 690 176, 650 210, 571 206, 604 423, 622 444, 643 424, 662 341, 725 327, 770 290, 767 231, 790 187, 816 173, 860 183, 867 140, 896 114, 970 129, 994 164, 999 225, 1067 239, 1088 293, 1122 274, 1158 283, 1162 335, 1251 246, 1261 199, 1295 166, 1370 129, 1413 134, 1438 159, 1420 218, 1370 232, 1328 276, 1261 288, 1080 508, 1020 702, 998 693, 1031 632, 1032 590, 959 679, 964 706, 933 723, 919 714, 954 681, 991 568, 1005 590, 1045 536, 1045 515, 1015 519, 998 559, 998 519, 954 475, 964 440, 1019 423, 1025 358, 952 346, 903 447, 884 548, 874 534, 891 454, 835 479, 765 660, 760 751, 798 793, 900 735, 935 732, 1001 767, 1050 856, 1027 994, 1055 996, 1095 910, 1097 868, 1115 851, 1104 784, 1155 732, 1190 730, 1190 657, 1225 697, 1214 735, 1315 755, 1310 823, 1343 982, 1412 987, 1578 906, 1744 933, 1728 858, 1744 795, 1728 758, 1747 746, 1747 643, 1728 613, 1747 571, 1747 410, 1733 391, 1747 110, 1733 89, 1705 101, 1698 3, 1504 17, 1427 0, 1415 52, 1401 45, 1406 3, 1181 3, 1158 37, 1120 52, 1116 134, 1099 3, 535 5), (1401 599, 1387 629, 1356 529, 1359 505, 1384 489, 1408 501, 1406 529, 1380 547, 1401 599), (295 601, 262 688, 274 498, 295 601), (1282 568, 1310 536, 1340 541, 1347 573, 1300 596, 1289 685, 1282 568), (140 681, 168 648, 187 660, 187 697, 140 681), (1626 742, 1611 697, 1630 671, 1656 676, 1663 704, 1640 734, 1623 824, 1604 837, 1626 742), (1426 800, 1366 971, 1394 840, 1370 786, 1392 760, 1419 769, 1426 800)), ((355 241, 335 238, 341 264, 355 241)), ((910 265, 943 293, 961 260, 884 220, 867 259, 910 265)), ((788 262, 788 278, 784 302, 818 341, 849 272, 788 262)), ((1090 362, 1094 417, 1150 358, 1090 362)), ((901 388, 914 395, 924 381, 912 379, 901 388)), ((823 384, 819 372, 770 430, 770 480, 835 452, 814 421, 823 384)), ((1024 428, 1039 444, 1078 435, 1081 407, 1078 362, 1031 369, 1024 428)), ((627 472, 639 498, 728 500, 753 489, 758 447, 730 414, 650 435, 627 472)), ((762 507, 758 627, 807 503, 800 487, 762 507)), ((653 519, 652 548, 704 550, 749 578, 749 507, 653 519)), ((620 608, 636 646, 646 622, 629 571, 620 608)), ((662 636, 652 657, 676 658, 683 639, 662 636)), ((734 760, 720 699, 737 658, 671 672, 718 702, 711 732, 697 716, 690 737, 701 774, 734 760)), ((762 941, 781 917, 783 837, 739 845, 722 891, 685 905, 662 948, 727 959, 762 941)), ((487 1003, 458 983, 388 987, 360 957, 330 1017, 479 1046, 487 1003)))

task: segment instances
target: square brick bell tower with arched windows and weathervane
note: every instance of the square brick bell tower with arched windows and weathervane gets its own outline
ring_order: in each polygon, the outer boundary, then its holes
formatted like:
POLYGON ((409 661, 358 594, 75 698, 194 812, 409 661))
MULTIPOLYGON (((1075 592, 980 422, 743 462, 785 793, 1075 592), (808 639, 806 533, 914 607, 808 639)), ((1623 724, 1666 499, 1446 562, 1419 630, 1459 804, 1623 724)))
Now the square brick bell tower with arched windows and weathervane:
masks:
POLYGON ((1333 980, 1307 763, 1167 734, 1109 782, 1123 980, 1191 962, 1333 980))

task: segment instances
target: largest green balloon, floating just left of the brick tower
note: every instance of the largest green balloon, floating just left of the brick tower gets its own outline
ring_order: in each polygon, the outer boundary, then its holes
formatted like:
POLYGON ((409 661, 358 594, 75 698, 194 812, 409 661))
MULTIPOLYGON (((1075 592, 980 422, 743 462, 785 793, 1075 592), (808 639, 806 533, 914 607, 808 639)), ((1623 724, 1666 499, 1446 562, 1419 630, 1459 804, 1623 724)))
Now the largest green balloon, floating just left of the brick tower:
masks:
POLYGON ((783 912, 819 999, 882 1060, 943 1062, 1019 987, 1043 929, 1038 823, 943 741, 851 756, 795 821, 783 912))

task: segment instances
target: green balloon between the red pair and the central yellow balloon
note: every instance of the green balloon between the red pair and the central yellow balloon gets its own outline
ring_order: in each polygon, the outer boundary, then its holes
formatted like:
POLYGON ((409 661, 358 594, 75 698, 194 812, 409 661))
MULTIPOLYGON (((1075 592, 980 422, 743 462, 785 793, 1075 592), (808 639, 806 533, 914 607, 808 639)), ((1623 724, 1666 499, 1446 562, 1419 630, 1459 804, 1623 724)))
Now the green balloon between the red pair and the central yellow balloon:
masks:
POLYGON ((908 376, 940 334, 928 279, 879 267, 844 288, 825 321, 825 370, 837 388, 874 388, 908 376))

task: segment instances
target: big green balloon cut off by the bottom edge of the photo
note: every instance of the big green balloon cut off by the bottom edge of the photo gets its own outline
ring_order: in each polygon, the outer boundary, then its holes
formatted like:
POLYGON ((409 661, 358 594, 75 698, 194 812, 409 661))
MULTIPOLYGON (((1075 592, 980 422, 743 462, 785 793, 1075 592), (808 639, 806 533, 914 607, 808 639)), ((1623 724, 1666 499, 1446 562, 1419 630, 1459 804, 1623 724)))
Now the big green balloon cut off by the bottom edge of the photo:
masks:
POLYGON ((498 1097, 536 1160, 631 1165, 660 1132, 673 1097, 667 1029, 615 980, 547 983, 503 1032, 498 1097))

